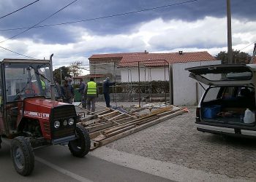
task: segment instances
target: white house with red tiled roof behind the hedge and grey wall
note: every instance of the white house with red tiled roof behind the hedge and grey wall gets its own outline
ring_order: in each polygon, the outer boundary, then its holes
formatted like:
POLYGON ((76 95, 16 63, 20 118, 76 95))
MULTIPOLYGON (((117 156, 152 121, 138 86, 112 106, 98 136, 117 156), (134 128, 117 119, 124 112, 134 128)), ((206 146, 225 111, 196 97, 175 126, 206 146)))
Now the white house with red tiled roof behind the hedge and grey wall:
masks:
MULTIPOLYGON (((173 52, 124 55, 118 65, 121 82, 169 80, 171 67, 175 63, 215 61, 208 52, 173 52), (140 69, 139 69, 140 68, 140 69), (140 76, 139 76, 140 74, 140 76)), ((197 65, 197 63, 195 63, 197 65)))

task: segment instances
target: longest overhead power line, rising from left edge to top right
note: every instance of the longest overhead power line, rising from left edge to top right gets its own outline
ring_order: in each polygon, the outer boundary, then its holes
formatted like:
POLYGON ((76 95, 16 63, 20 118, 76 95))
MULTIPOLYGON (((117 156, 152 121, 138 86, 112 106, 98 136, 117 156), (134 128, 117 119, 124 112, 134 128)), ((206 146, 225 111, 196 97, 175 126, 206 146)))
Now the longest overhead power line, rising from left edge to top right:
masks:
MULTIPOLYGON (((120 14, 116 14, 116 15, 108 15, 108 16, 104 16, 104 17, 94 17, 94 18, 89 18, 89 19, 85 19, 85 20, 77 20, 77 21, 71 21, 71 22, 66 22, 66 23, 56 23, 56 24, 50 24, 50 25, 39 25, 39 26, 34 26, 33 28, 42 28, 42 27, 48 27, 48 26, 80 23, 80 22, 86 22, 86 21, 91 21, 91 20, 100 20, 100 19, 105 19, 105 18, 109 18, 109 17, 129 15, 129 14, 134 14, 134 13, 138 13, 138 12, 146 12, 146 11, 150 11, 150 10, 154 10, 154 9, 162 9, 162 8, 165 8, 165 7, 173 7, 173 6, 176 6, 176 5, 187 4, 187 3, 190 3, 190 2, 194 2, 194 1, 198 1, 198 0, 184 1, 184 2, 180 2, 180 3, 176 3, 176 4, 167 4, 167 5, 162 6, 162 7, 152 7, 152 8, 148 8, 148 9, 140 9, 140 10, 133 11, 133 12, 124 12, 124 13, 120 13, 120 14)), ((8 29, 0 29, 0 31, 15 31, 15 30, 20 30, 20 29, 25 29, 25 28, 8 28, 8 29)))

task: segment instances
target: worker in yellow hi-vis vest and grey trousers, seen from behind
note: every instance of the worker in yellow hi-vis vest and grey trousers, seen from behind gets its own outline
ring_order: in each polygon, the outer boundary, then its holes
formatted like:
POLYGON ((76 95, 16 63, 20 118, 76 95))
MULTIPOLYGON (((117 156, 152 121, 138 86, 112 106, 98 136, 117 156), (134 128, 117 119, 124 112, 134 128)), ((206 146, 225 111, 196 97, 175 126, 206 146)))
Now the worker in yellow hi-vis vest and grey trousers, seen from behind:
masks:
POLYGON ((89 110, 88 114, 91 114, 91 112, 95 111, 96 98, 99 95, 98 86, 97 86, 97 83, 94 82, 94 78, 90 78, 90 82, 86 84, 84 93, 87 98, 86 108, 89 110))

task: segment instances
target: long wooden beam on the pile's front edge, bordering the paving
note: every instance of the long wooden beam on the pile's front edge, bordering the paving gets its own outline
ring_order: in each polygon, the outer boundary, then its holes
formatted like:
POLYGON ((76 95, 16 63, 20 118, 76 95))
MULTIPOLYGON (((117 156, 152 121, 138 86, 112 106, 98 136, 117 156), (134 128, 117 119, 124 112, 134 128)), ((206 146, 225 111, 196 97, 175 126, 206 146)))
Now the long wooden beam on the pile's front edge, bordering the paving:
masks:
POLYGON ((147 128, 147 127, 151 127, 154 124, 158 124, 159 122, 163 122, 163 121, 165 121, 167 119, 173 118, 174 116, 178 116, 180 114, 183 114, 184 112, 186 112, 186 111, 185 110, 177 111, 177 112, 175 112, 173 114, 170 114, 170 115, 167 115, 167 116, 163 116, 163 117, 161 117, 159 119, 156 119, 154 121, 148 122, 146 124, 142 124, 139 127, 135 127, 135 128, 130 129, 130 130, 127 130, 125 132, 118 133, 117 135, 114 135, 112 137, 105 138, 102 141, 99 141, 99 146, 103 146, 103 145, 108 144, 108 143, 110 143, 112 141, 116 141, 119 138, 123 138, 123 137, 125 137, 127 135, 131 135, 134 132, 138 132, 138 131, 143 130, 143 129, 147 128))

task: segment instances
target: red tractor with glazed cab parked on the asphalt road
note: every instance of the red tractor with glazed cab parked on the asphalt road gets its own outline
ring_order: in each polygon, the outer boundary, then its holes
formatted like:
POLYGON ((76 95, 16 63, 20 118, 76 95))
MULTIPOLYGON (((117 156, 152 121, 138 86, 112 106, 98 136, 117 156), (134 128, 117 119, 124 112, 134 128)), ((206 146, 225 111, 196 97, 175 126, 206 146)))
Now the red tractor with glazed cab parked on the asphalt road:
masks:
POLYGON ((1 138, 10 138, 11 157, 20 175, 34 169, 34 149, 68 143, 75 157, 88 154, 89 132, 78 122, 75 106, 56 101, 50 60, 0 62, 1 138))

